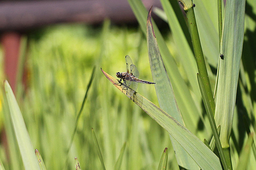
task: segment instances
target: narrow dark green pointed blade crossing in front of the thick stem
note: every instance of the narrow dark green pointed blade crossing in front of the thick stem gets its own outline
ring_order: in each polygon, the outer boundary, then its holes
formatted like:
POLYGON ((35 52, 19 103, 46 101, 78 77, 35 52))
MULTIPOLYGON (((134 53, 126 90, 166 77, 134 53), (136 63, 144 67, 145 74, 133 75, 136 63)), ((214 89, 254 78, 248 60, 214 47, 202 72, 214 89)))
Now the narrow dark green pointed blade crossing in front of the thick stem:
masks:
POLYGON ((212 128, 212 133, 213 133, 213 136, 214 136, 214 139, 215 139, 215 142, 216 142, 219 154, 220 154, 220 159, 221 159, 222 165, 223 165, 225 170, 228 170, 228 166, 227 166, 227 163, 226 163, 226 160, 225 160, 225 157, 224 157, 224 153, 223 153, 222 147, 221 147, 220 138, 219 138, 219 135, 218 135, 218 130, 217 130, 216 123, 215 123, 215 120, 214 120, 214 117, 213 117, 211 105, 210 105, 208 96, 206 94, 206 90, 204 88, 202 78, 200 77, 199 74, 197 74, 197 79, 198 79, 199 88, 201 90, 202 98, 203 98, 203 101, 204 101, 204 107, 205 107, 205 110, 206 110, 206 113, 207 113, 207 116, 208 116, 208 119, 209 119, 209 122, 210 122, 210 125, 211 125, 211 128, 212 128))

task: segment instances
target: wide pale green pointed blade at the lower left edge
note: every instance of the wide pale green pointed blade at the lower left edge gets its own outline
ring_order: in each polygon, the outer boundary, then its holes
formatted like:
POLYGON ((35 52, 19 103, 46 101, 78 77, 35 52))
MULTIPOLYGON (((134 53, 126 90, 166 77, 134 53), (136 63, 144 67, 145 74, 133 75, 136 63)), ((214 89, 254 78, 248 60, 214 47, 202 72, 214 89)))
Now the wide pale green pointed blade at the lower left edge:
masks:
POLYGON ((28 131, 23 120, 20 108, 12 92, 12 88, 8 81, 4 81, 4 89, 7 98, 7 102, 10 109, 12 126, 15 131, 17 142, 20 149, 21 158, 23 165, 26 170, 30 169, 40 169, 34 154, 34 148, 30 141, 28 131))

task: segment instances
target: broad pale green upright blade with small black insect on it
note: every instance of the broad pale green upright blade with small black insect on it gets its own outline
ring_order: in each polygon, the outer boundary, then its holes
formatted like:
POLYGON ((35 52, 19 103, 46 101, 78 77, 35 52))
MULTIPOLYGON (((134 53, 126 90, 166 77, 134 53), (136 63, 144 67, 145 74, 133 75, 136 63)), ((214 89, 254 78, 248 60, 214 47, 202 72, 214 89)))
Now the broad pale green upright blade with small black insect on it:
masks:
MULTIPOLYGON (((233 124, 240 60, 244 39, 245 0, 227 1, 220 53, 216 93, 216 124, 221 126, 222 148, 229 150, 229 138, 233 124)), ((229 155, 227 153, 227 155, 229 155)), ((228 161, 228 160, 227 160, 228 161)), ((227 162, 231 166, 231 162, 227 162)))

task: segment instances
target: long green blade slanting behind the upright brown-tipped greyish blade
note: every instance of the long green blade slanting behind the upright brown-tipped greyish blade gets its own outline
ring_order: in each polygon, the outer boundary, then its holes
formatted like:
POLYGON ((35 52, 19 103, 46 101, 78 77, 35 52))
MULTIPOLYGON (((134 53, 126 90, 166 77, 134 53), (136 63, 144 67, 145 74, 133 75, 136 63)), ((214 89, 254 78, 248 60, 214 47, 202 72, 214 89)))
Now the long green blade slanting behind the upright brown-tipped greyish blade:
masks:
MULTIPOLYGON (((147 16, 148 11, 145 8, 145 6, 142 4, 140 0, 128 0, 134 15, 136 16, 140 28, 144 35, 147 35, 147 16)), ((161 56, 164 60, 166 70, 168 72, 170 81, 172 82, 172 88, 174 91, 174 95, 176 97, 177 104, 179 106, 180 112, 184 115, 183 119, 185 124, 187 125, 188 129, 190 129, 194 134, 197 134, 200 136, 200 138, 205 138, 205 136, 202 135, 202 133, 198 133, 198 131, 195 130, 194 127, 197 126, 199 115, 200 113, 199 109, 196 107, 196 103, 193 100, 190 90, 188 89, 187 84, 182 79, 182 76, 178 70, 178 67, 176 65, 175 60, 172 58, 169 49, 164 42, 164 39, 157 28, 154 21, 152 21, 152 25, 154 27, 154 32, 156 35, 159 51, 161 53, 161 56), (193 116, 192 116, 193 115, 193 116)))

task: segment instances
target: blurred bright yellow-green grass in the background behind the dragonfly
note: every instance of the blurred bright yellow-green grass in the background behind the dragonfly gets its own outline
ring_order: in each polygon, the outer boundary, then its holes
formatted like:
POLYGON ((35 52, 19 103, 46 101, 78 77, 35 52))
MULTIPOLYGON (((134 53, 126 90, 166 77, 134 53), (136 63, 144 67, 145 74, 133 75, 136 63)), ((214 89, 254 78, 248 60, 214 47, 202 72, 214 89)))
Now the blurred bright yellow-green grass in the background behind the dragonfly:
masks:
MULTIPOLYGON (((171 47, 170 33, 164 32, 171 47)), ((157 168, 164 148, 171 147, 168 133, 120 93, 100 70, 102 67, 115 76, 116 72, 125 71, 125 55, 130 55, 140 78, 152 81, 147 42, 139 26, 116 26, 109 20, 102 26, 55 25, 38 29, 22 40, 22 48, 27 48, 24 55, 27 60, 19 64, 25 64, 28 70, 28 84, 25 90, 18 80, 16 98, 32 144, 41 153, 47 169, 64 166, 76 116, 94 66, 95 77, 68 155, 68 169, 72 169, 75 157, 83 169, 101 168, 92 127, 107 169, 113 169, 125 141, 121 169, 157 168)), ((0 63, 3 68, 2 49, 0 63)), ((1 73, 3 82, 3 69, 1 73)), ((153 85, 140 84, 137 91, 158 105, 153 85)), ((2 131, 4 108, 2 105, 0 108, 2 131)), ((18 148, 10 148, 8 153, 5 146, 0 145, 2 162, 5 168, 13 169, 8 161, 10 157, 12 161, 13 152, 18 148)), ((174 153, 169 152, 170 169, 172 164, 177 167, 173 157, 174 153)), ((15 164, 21 165, 20 158, 16 159, 15 164)))

